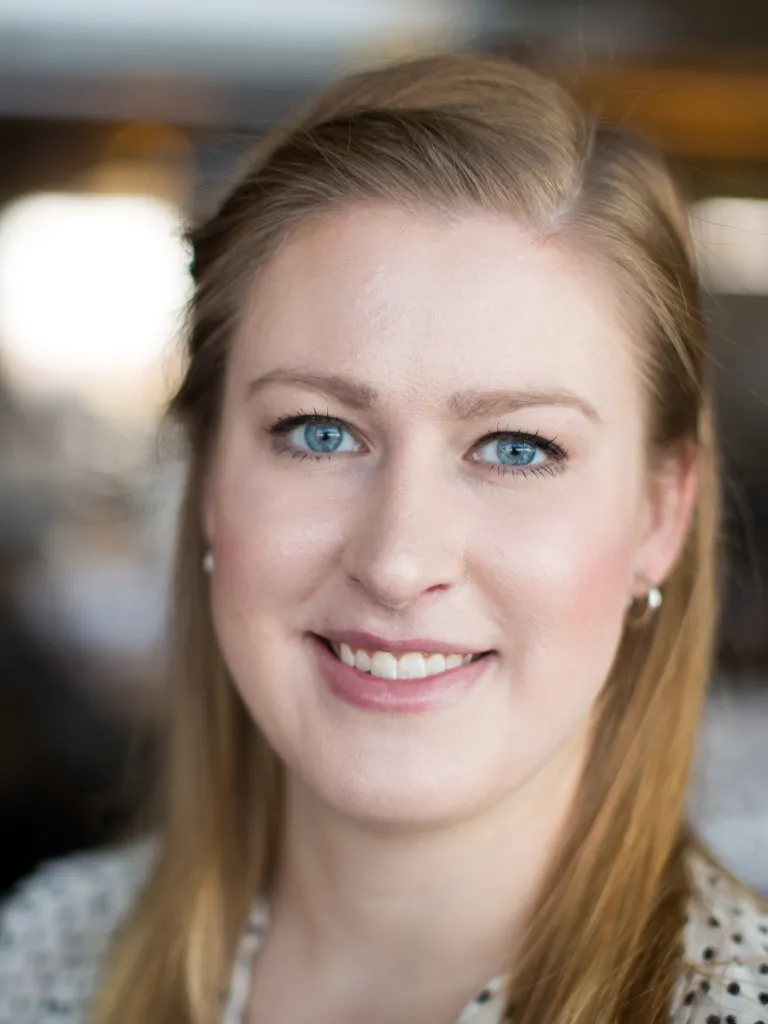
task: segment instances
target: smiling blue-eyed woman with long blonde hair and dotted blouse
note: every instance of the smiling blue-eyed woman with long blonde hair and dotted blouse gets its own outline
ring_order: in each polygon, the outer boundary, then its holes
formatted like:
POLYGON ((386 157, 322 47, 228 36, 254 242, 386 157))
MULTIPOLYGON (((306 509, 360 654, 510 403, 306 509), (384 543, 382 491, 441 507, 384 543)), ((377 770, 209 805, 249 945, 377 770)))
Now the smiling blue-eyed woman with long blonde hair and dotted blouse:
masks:
POLYGON ((768 1018, 764 908, 684 822, 717 486, 663 164, 428 58, 193 241, 165 825, 27 883, 0 1019, 768 1018))

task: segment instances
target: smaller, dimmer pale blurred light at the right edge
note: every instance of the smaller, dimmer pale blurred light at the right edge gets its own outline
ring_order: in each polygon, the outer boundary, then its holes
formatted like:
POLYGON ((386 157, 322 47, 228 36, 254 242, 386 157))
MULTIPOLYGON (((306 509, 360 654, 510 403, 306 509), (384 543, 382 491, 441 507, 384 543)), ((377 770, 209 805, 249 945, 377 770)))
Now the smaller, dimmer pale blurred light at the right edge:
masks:
POLYGON ((768 295, 768 200, 712 197, 691 208, 708 287, 720 295, 768 295))

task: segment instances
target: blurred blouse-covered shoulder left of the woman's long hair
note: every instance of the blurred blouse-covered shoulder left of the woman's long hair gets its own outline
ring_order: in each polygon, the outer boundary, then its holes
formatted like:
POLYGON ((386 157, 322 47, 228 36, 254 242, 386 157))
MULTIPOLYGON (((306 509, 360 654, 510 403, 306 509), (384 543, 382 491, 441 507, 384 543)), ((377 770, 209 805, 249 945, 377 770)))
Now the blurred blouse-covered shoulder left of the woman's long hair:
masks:
POLYGON ((49 861, 0 903, 0 1024, 81 1024, 157 844, 49 861))

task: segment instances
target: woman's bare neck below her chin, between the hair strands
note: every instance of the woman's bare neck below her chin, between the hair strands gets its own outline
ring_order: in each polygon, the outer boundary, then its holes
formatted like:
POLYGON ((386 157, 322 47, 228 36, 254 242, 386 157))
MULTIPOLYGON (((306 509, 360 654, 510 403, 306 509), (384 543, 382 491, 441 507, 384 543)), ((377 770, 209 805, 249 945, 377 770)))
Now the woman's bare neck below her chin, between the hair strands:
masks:
POLYGON ((471 998, 506 972, 556 852, 586 743, 514 793, 429 829, 350 820, 289 779, 275 940, 297 970, 471 998))

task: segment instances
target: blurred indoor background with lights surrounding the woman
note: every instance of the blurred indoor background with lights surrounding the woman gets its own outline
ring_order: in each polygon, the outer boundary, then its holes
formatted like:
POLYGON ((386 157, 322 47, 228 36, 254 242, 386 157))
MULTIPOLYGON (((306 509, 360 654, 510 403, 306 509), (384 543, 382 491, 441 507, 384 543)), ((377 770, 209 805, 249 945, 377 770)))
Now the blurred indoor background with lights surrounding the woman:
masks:
POLYGON ((335 76, 452 47, 538 54, 690 198, 729 556, 691 814, 768 892, 765 0, 0 0, 0 893, 155 770, 184 222, 335 76))

